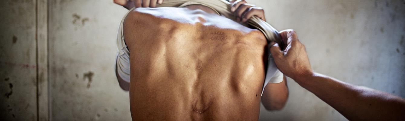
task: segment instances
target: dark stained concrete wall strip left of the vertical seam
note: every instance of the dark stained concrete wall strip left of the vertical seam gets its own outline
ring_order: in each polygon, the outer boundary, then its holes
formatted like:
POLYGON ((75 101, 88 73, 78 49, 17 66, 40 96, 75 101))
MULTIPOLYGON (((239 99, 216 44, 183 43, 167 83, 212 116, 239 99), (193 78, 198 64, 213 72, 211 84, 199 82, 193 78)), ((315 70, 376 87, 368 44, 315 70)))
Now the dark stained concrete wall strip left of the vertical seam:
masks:
POLYGON ((37 120, 35 5, 35 0, 0 0, 2 121, 37 120))

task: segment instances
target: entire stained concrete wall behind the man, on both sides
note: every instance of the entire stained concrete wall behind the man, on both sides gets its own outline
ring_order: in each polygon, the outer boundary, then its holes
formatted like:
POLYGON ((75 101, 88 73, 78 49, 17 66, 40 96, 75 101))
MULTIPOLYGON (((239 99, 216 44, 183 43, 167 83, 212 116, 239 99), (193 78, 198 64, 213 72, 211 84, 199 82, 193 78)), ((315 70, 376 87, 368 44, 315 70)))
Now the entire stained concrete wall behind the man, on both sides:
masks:
MULTIPOLYGON (((248 0, 294 29, 315 71, 405 98, 404 0, 248 0)), ((0 119, 128 121, 115 79, 126 10, 112 0, 0 1, 0 119), (12 86, 11 86, 12 85, 12 86)), ((347 120, 288 79, 285 108, 260 120, 347 120)), ((263 106, 262 106, 263 107, 263 106)))

